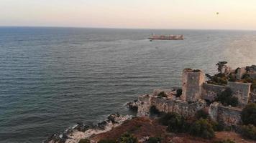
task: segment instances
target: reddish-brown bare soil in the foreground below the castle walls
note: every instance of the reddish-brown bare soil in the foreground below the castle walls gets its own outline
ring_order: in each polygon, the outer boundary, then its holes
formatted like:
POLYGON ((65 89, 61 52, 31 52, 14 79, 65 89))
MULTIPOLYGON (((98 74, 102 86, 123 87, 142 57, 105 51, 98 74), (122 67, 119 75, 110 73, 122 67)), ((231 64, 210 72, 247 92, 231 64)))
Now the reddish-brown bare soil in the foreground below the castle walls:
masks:
POLYGON ((234 132, 216 132, 216 137, 211 140, 192 137, 189 134, 173 134, 166 132, 166 127, 158 124, 155 119, 147 117, 136 117, 132 120, 128 120, 121 126, 111 129, 109 132, 97 134, 91 137, 91 139, 94 141, 99 141, 100 139, 118 139, 125 132, 131 132, 137 139, 142 139, 142 137, 162 137, 163 143, 213 143, 223 139, 232 139, 237 143, 253 142, 242 139, 239 134, 234 132))

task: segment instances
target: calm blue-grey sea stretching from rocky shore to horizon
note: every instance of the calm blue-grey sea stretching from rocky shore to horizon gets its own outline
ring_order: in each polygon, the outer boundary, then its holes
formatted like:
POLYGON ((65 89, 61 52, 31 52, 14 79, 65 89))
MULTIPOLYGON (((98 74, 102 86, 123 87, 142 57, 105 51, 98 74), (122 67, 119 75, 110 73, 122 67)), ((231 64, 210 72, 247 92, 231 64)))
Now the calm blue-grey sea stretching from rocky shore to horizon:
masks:
POLYGON ((184 68, 256 64, 256 31, 0 28, 0 142, 42 142, 180 85, 184 68), (183 41, 149 41, 151 34, 183 41))

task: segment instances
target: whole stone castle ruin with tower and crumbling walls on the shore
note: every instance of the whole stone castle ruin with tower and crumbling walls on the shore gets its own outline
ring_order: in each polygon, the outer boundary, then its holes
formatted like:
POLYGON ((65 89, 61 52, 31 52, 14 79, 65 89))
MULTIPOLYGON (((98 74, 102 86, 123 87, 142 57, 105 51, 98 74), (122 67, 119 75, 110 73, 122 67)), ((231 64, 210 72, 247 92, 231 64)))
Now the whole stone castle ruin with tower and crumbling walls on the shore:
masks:
POLYGON ((226 64, 224 61, 216 64, 219 73, 212 77, 205 76, 198 69, 184 69, 180 96, 177 96, 178 88, 157 89, 152 94, 140 96, 130 106, 137 107, 137 116, 149 116, 150 109, 154 107, 159 112, 177 112, 187 119, 204 109, 216 122, 237 126, 241 124, 242 108, 256 101, 256 66, 231 69, 226 64), (209 77, 209 80, 206 81, 205 77, 209 77), (227 88, 238 100, 236 107, 216 102, 217 96, 227 88))

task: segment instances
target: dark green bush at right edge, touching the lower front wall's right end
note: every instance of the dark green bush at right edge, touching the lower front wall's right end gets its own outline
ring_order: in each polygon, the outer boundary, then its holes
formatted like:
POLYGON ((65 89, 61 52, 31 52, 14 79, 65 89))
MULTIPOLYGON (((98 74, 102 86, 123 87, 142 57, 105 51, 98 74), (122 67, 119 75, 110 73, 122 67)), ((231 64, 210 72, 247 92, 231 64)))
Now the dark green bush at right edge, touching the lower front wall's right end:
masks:
POLYGON ((242 109, 241 118, 243 124, 253 124, 256 126, 256 104, 247 104, 247 106, 242 109))

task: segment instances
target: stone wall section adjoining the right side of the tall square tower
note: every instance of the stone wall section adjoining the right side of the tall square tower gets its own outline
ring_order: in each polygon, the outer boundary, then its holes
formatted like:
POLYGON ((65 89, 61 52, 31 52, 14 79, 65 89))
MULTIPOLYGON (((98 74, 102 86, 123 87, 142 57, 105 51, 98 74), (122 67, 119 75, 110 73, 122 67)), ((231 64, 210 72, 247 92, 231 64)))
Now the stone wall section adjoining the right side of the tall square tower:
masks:
POLYGON ((202 97, 212 102, 214 99, 216 99, 217 94, 223 92, 224 90, 224 86, 204 83, 202 97))

